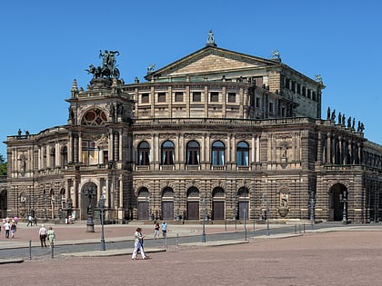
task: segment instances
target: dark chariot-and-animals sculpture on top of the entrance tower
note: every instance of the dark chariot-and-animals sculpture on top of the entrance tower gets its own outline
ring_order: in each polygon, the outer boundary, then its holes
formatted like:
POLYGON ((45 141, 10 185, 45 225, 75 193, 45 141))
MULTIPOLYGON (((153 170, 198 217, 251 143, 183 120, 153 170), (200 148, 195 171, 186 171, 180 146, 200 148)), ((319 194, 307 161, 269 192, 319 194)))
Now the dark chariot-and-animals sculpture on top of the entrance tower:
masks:
POLYGON ((102 57, 102 65, 96 66, 89 64, 89 68, 85 71, 87 74, 93 74, 93 78, 119 78, 119 70, 116 68, 116 55, 118 51, 107 51, 104 54, 99 50, 98 57, 102 57))

